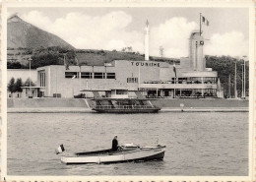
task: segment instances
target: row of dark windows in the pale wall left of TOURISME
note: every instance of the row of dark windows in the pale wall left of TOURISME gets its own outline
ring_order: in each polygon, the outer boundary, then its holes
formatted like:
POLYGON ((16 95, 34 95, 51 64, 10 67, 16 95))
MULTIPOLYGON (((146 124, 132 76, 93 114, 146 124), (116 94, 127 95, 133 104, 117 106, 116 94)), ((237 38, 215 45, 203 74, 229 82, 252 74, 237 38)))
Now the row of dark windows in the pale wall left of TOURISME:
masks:
MULTIPOLYGON (((78 79, 79 72, 65 72, 66 79, 78 79)), ((81 72, 81 79, 115 79, 115 73, 81 72)))

